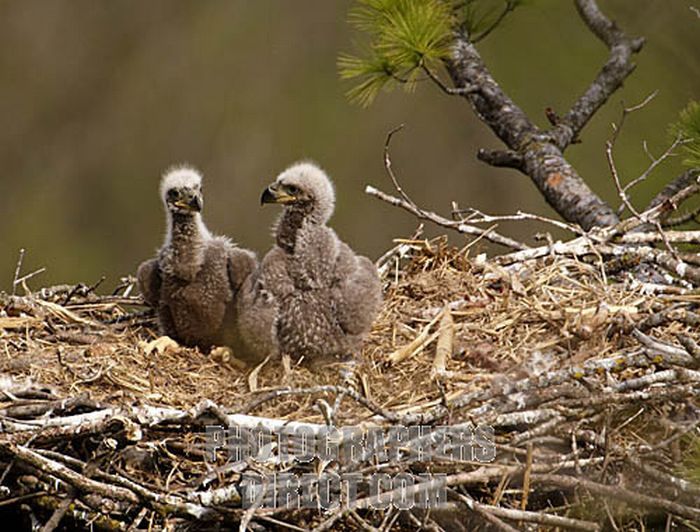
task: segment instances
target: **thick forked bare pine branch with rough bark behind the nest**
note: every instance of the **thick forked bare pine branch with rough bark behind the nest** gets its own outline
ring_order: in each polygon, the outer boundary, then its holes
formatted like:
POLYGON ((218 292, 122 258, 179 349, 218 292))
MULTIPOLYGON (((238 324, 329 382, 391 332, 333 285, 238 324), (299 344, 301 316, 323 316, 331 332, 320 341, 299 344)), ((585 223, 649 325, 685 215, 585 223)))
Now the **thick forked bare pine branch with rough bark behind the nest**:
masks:
POLYGON ((551 130, 540 130, 501 89, 468 35, 456 35, 453 54, 446 66, 457 89, 474 88, 462 97, 508 148, 481 150, 479 159, 525 173, 565 220, 588 230, 613 226, 619 218, 569 164, 563 152, 632 73, 631 57, 644 41, 627 38, 594 0, 575 0, 575 4, 588 28, 610 48, 610 56, 584 94, 551 130))

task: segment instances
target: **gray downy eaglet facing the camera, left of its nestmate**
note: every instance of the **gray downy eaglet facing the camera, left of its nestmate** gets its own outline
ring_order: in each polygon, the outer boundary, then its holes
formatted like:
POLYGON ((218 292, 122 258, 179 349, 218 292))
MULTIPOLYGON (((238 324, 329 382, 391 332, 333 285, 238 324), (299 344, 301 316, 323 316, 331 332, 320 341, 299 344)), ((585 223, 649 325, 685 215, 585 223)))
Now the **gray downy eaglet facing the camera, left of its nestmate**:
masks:
POLYGON ((165 242, 138 269, 139 288, 158 314, 161 334, 207 350, 238 342, 236 297, 255 255, 212 235, 202 221, 202 177, 182 166, 160 184, 165 242))

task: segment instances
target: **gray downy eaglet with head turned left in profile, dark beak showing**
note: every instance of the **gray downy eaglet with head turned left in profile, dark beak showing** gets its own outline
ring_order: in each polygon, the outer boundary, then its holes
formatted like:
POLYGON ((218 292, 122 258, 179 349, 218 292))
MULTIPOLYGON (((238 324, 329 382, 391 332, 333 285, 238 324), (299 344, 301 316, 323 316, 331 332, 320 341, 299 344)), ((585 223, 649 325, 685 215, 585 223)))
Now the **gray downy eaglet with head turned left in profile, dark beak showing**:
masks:
POLYGON ((382 302, 374 264, 326 225, 333 185, 318 166, 294 164, 262 194, 284 206, 276 244, 241 289, 241 335, 248 358, 287 354, 312 363, 359 350, 382 302))

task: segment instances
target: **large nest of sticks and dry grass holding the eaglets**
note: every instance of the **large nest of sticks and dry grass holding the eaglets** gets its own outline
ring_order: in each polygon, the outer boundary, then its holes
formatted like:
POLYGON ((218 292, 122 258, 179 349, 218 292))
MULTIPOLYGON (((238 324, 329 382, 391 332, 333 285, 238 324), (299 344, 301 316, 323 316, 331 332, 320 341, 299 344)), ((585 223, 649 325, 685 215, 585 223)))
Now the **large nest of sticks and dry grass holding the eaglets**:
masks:
POLYGON ((202 522, 449 529, 455 510, 462 526, 503 530, 700 522, 700 487, 679 466, 700 425, 694 290, 650 293, 595 257, 506 267, 443 238, 401 246, 403 258, 383 269, 385 304, 350 380, 332 366, 241 368, 196 349, 153 349, 153 318, 134 313, 141 300, 123 291, 2 296, 0 466, 9 502, 0 509, 20 498, 44 520, 62 512, 76 526, 118 530, 202 522), (444 370, 438 344, 448 352, 444 370), (336 426, 489 424, 497 454, 490 464, 383 466, 446 473, 444 515, 360 506, 246 512, 236 488, 256 465, 203 459, 204 426, 234 414, 336 426), (229 496, 202 502, 212 491, 229 496))

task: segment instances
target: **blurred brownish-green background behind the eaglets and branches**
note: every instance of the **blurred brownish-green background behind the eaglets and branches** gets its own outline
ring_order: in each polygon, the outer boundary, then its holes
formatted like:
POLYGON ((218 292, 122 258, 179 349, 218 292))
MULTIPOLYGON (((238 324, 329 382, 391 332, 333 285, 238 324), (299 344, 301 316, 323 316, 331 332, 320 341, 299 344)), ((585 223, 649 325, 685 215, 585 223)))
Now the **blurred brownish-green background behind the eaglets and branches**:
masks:
MULTIPOLYGON (((0 0, 0 289, 18 250, 23 272, 44 266, 34 288, 59 282, 106 287, 133 273, 160 245, 161 173, 188 162, 205 176, 210 228, 264 253, 274 207, 263 187, 286 165, 313 158, 334 178, 332 220, 342 238, 377 257, 417 222, 366 196, 390 190, 384 138, 399 123, 393 159, 422 206, 449 215, 450 202, 489 213, 551 213, 528 178, 475 158, 498 147, 467 103, 420 83, 351 105, 336 58, 358 36, 350 1, 0 0)), ((604 198, 615 197, 603 145, 620 102, 656 99, 632 115, 618 143, 624 180, 659 154, 667 124, 700 92, 700 19, 686 0, 600 0, 648 42, 637 71, 567 152, 604 198)), ((607 56, 573 2, 532 0, 480 44, 503 87, 539 124, 584 90, 607 56)), ((674 160, 635 189, 643 205, 680 171, 674 160)), ((617 205, 617 202, 614 202, 617 205)), ((533 228, 502 230, 528 238, 533 228)), ((440 232, 431 230, 430 234, 440 232)), ((463 243, 459 235, 451 236, 463 243)))

